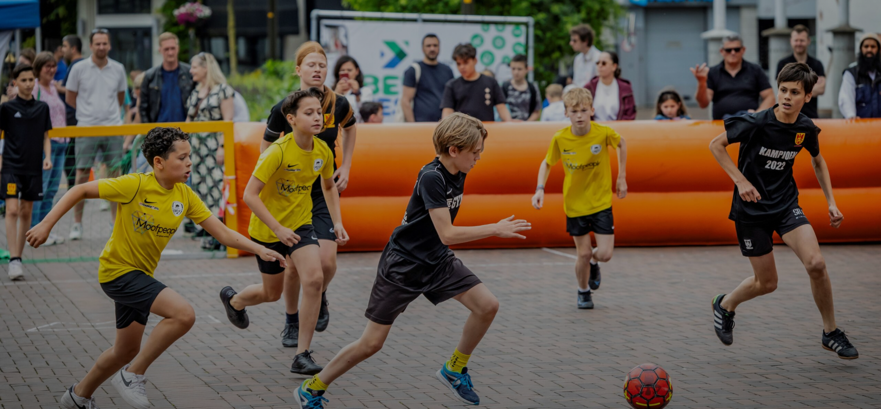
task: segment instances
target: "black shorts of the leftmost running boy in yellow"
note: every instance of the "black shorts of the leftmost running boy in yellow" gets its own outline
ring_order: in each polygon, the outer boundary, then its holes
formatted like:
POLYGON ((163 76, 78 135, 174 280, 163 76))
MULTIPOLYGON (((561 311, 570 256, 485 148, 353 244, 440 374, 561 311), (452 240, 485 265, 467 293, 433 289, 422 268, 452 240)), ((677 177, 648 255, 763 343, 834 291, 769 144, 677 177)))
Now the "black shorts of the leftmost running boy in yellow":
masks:
POLYGON ((132 270, 101 283, 101 289, 116 303, 116 328, 128 327, 132 322, 147 324, 150 307, 165 284, 148 276, 144 271, 132 270))

